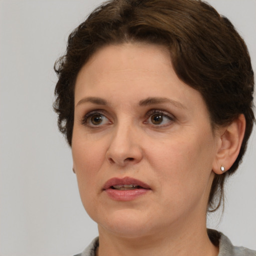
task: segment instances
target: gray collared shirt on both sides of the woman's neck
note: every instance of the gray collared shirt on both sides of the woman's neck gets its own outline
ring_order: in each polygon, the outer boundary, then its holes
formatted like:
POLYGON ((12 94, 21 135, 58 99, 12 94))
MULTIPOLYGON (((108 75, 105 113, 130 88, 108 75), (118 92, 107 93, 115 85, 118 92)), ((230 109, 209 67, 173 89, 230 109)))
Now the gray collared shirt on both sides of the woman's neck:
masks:
MULTIPOLYGON (((208 233, 210 233, 210 239, 214 240, 212 241, 214 244, 216 244, 216 240, 218 240, 218 256, 256 256, 256 250, 250 250, 241 246, 233 246, 231 241, 220 232, 210 230, 208 233)), ((76 254, 75 256, 95 256, 95 250, 97 246, 98 237, 94 238, 82 253, 76 254)))

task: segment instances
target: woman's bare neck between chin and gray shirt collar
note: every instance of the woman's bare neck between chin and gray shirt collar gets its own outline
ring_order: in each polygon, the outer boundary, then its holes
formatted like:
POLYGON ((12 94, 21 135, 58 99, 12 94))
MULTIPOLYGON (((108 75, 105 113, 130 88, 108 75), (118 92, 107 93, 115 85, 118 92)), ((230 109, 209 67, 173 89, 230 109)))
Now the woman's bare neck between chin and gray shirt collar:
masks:
POLYGON ((206 224, 199 226, 198 223, 191 225, 190 222, 183 226, 183 230, 172 226, 132 238, 109 233, 99 226, 97 256, 218 255, 218 248, 210 242, 207 235, 206 224))

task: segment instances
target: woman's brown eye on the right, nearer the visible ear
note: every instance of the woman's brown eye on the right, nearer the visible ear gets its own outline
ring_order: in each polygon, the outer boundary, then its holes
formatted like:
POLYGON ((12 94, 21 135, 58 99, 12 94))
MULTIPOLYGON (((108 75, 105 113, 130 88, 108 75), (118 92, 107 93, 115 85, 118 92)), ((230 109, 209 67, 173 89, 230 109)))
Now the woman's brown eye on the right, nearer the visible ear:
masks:
POLYGON ((173 115, 157 109, 150 110, 149 112, 146 113, 146 115, 148 116, 148 118, 145 121, 145 123, 158 125, 158 126, 170 125, 171 122, 173 122, 175 119, 173 115))

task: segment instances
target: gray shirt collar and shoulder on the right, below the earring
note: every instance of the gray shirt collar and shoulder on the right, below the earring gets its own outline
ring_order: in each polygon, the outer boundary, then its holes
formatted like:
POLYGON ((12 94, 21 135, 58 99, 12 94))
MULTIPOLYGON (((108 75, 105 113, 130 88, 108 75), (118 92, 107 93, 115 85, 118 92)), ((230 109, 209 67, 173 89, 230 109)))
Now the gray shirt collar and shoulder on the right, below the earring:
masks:
POLYGON ((208 229, 207 232, 212 243, 215 245, 218 243, 218 256, 256 256, 256 250, 250 250, 242 246, 234 246, 221 232, 211 229, 208 229))

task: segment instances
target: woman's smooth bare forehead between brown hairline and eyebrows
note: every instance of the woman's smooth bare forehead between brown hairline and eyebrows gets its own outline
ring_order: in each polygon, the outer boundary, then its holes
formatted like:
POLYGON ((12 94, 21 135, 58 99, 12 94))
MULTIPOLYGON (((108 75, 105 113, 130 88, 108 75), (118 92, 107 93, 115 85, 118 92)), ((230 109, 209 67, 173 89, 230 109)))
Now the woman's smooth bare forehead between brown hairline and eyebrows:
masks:
POLYGON ((147 97, 169 97, 190 108, 201 104, 198 91, 175 74, 169 51, 161 45, 126 43, 96 51, 81 68, 75 83, 75 103, 83 97, 118 103, 147 97))

